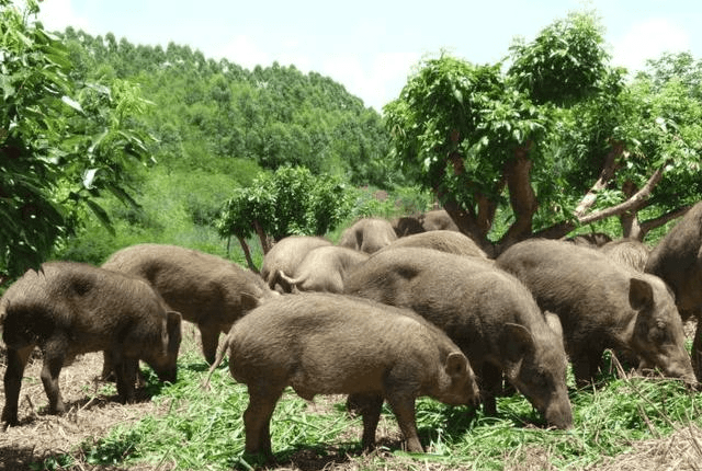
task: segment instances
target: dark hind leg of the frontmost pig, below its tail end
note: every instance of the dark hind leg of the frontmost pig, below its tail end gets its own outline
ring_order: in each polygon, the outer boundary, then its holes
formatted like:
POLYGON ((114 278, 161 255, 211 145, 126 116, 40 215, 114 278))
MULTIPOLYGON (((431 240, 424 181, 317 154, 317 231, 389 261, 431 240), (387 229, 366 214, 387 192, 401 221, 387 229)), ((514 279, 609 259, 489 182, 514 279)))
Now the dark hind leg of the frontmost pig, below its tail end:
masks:
POLYGON ((273 456, 271 449, 271 416, 275 403, 283 395, 284 387, 257 387, 249 384, 249 405, 244 412, 246 430, 245 451, 251 455, 273 456))

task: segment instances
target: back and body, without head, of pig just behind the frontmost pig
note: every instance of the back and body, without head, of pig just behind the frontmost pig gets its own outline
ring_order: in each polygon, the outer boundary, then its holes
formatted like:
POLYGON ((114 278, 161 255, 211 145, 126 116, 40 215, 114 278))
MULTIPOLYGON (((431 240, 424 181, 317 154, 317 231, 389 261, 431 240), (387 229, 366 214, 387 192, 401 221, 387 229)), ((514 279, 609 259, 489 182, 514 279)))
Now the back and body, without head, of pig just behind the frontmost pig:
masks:
POLYGON ((497 355, 505 323, 544 324, 529 291, 487 260, 419 248, 381 251, 352 268, 344 292, 410 308, 472 360, 497 355))

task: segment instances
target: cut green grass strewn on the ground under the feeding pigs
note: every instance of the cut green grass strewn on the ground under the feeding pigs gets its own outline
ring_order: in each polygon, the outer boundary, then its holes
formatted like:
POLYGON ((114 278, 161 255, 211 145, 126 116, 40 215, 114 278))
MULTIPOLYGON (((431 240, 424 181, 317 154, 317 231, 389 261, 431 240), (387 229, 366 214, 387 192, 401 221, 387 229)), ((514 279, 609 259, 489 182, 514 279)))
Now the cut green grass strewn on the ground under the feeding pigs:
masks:
MULTIPOLYGON (((146 469, 250 469, 260 462, 244 456, 244 384, 225 366, 202 389, 206 365, 196 351, 180 359, 179 381, 160 387, 147 375, 152 401, 165 411, 136 424, 114 427, 105 437, 84 441, 72 453, 77 462, 146 469)), ((471 407, 452 407, 428 398, 417 403, 417 425, 426 455, 406 453, 393 414, 384 409, 380 448, 363 453, 361 420, 346 413, 344 398, 319 397, 315 405, 287 391, 271 422, 273 452, 285 469, 476 469, 502 470, 533 460, 552 469, 597 467, 604 457, 632 449, 644 439, 665 438, 688 426, 702 426, 700 395, 675 380, 603 378, 597 389, 571 391, 575 427, 543 428, 543 421, 520 394, 498 400, 498 416, 471 407), (315 464, 302 466, 314 462, 315 464)), ((701 453, 702 455, 702 453, 701 453)), ((43 469, 60 469, 54 457, 43 469)), ((64 464, 61 464, 64 463, 64 464)), ((75 464, 75 463, 73 463, 75 464)))

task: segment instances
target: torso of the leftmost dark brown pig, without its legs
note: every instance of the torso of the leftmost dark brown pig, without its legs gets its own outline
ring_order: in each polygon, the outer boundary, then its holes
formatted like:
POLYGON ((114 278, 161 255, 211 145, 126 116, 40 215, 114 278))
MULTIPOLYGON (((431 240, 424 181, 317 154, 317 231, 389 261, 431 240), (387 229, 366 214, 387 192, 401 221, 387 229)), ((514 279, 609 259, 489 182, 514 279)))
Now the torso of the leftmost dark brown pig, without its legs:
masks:
POLYGON ((121 333, 135 343, 160 345, 165 302, 144 280, 73 262, 29 271, 3 297, 3 338, 21 347, 63 332, 77 353, 104 349, 121 333))

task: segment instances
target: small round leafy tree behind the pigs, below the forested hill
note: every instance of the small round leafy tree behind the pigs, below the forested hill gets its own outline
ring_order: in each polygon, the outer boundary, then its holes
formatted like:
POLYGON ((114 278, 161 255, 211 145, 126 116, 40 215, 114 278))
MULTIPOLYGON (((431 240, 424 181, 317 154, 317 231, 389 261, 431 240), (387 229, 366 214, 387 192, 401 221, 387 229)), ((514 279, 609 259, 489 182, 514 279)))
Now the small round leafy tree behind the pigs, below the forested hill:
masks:
POLYGON ((256 271, 248 238, 257 234, 268 253, 271 241, 287 236, 322 236, 348 217, 348 194, 340 179, 315 176, 304 166, 262 172, 250 186, 234 191, 215 227, 222 238, 237 238, 249 267, 256 271))

